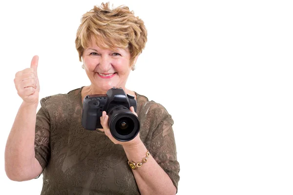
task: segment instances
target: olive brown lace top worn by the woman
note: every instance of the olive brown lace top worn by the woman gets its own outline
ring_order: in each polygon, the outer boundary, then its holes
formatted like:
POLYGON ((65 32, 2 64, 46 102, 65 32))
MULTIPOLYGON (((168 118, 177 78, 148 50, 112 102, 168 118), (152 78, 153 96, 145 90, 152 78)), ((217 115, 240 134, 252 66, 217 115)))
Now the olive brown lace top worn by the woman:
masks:
MULTIPOLYGON (((43 171, 41 195, 139 195, 123 147, 104 132, 82 127, 82 88, 41 99, 35 156, 43 171)), ((136 93, 140 137, 178 187, 173 120, 166 109, 136 93)))

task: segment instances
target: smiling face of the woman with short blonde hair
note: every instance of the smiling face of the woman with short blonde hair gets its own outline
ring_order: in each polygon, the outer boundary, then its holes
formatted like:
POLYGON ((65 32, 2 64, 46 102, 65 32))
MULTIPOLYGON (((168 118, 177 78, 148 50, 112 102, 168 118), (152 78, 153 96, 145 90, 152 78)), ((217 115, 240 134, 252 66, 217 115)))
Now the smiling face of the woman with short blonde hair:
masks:
POLYGON ((131 71, 128 49, 101 49, 91 41, 84 49, 83 61, 86 75, 95 90, 105 93, 112 87, 125 88, 131 71))

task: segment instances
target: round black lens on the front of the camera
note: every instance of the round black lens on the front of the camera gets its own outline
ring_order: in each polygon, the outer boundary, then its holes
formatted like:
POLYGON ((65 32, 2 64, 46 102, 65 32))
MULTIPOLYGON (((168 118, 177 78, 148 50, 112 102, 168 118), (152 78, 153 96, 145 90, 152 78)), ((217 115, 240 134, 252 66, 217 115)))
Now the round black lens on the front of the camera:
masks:
POLYGON ((138 117, 125 106, 117 105, 107 111, 112 136, 119 141, 129 141, 137 136, 140 129, 138 117))

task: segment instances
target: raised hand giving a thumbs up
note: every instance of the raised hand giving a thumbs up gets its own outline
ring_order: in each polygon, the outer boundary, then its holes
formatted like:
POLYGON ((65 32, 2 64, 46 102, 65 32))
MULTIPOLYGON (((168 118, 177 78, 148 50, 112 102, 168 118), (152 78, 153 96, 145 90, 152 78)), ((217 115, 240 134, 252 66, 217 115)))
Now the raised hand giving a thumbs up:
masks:
POLYGON ((40 84, 37 74, 39 57, 34 56, 30 68, 15 74, 14 84, 18 95, 30 105, 39 103, 40 84))

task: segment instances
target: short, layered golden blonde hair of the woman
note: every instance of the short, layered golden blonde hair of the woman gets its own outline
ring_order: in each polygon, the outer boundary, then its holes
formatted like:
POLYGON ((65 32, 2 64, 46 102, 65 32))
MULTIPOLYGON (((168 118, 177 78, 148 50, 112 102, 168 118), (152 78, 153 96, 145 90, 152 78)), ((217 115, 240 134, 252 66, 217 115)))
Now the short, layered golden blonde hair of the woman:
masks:
POLYGON ((106 2, 94 6, 81 19, 75 39, 80 61, 91 39, 103 49, 128 48, 132 65, 146 46, 147 31, 144 21, 135 17, 127 6, 110 9, 109 2, 106 2))

